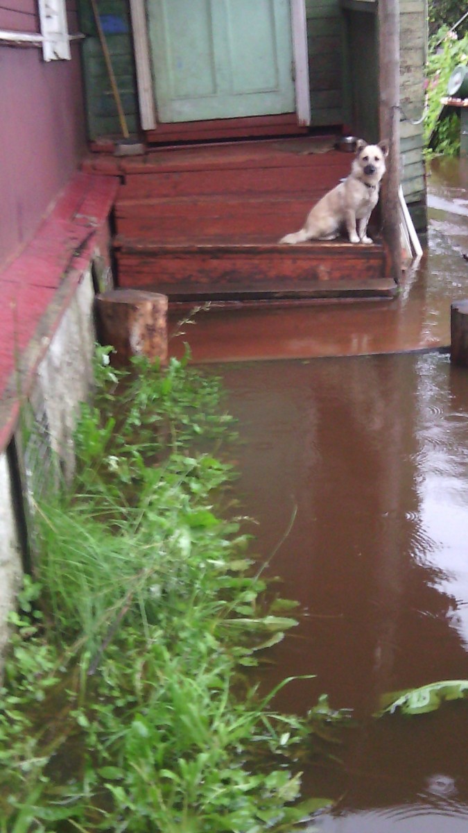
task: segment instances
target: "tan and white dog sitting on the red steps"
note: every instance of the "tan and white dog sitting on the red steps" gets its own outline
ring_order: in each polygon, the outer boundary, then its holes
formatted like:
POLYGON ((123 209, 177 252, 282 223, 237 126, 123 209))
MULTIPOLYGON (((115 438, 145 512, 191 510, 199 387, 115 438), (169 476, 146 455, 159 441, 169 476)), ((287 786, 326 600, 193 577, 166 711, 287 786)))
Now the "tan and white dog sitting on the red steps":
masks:
POLYGON ((371 244, 367 223, 379 199, 388 152, 386 141, 368 145, 358 139, 349 176, 316 202, 299 232, 286 234, 280 243, 334 240, 346 230, 351 243, 371 244))

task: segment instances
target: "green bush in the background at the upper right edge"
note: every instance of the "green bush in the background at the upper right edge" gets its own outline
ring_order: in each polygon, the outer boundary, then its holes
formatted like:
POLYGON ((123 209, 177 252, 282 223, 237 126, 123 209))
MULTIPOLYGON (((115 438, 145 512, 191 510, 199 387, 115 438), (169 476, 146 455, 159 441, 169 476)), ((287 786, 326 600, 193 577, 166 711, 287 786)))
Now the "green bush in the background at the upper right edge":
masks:
POLYGON ((424 138, 427 148, 446 156, 460 153, 460 116, 456 111, 444 115, 441 99, 447 94, 447 83, 458 66, 468 64, 468 33, 461 38, 438 32, 431 39, 426 67, 427 109, 424 138), (442 37, 442 40, 441 40, 442 37), (439 41, 441 42, 439 43, 439 41))

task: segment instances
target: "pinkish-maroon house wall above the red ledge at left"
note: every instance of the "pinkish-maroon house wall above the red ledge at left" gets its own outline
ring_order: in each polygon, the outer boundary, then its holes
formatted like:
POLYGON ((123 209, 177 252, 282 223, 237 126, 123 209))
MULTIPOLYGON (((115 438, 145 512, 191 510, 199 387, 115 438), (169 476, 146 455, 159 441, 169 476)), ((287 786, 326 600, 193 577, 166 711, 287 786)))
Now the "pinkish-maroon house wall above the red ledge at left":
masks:
MULTIPOLYGON (((77 32, 70 11, 70 32, 77 32)), ((32 22, 31 12, 18 17, 32 22)), ((12 28, 1 15, 0 27, 12 28)), ((72 42, 72 61, 46 63, 37 47, 0 45, 0 268, 32 237, 86 150, 79 51, 72 42)))

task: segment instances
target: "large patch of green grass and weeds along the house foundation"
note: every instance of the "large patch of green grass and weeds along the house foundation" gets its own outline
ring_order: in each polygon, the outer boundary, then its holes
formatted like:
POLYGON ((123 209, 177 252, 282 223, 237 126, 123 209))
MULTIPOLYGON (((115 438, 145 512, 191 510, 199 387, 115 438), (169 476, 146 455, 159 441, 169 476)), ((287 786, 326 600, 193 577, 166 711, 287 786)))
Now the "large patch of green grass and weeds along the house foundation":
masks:
POLYGON ((297 762, 344 715, 323 697, 278 713, 241 673, 296 621, 214 508, 220 403, 186 360, 128 374, 101 352, 75 488, 37 507, 37 581, 12 616, 1 833, 279 833, 326 804, 300 801, 297 762))

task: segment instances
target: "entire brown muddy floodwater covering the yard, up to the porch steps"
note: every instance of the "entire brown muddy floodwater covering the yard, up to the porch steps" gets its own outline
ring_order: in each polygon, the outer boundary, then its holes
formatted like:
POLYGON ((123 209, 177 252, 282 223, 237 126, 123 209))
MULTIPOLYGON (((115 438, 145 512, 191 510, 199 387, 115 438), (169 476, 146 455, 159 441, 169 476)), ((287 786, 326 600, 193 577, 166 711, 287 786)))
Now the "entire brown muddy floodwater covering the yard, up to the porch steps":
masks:
POLYGON ((265 685, 315 674, 276 705, 305 712, 326 692, 356 717, 336 761, 304 772, 336 802, 320 833, 468 829, 468 703, 373 716, 382 693, 468 678, 468 370, 441 352, 468 297, 467 188, 468 160, 434 164, 429 249, 396 301, 207 312, 185 337, 222 362, 236 494, 301 604, 265 685))

